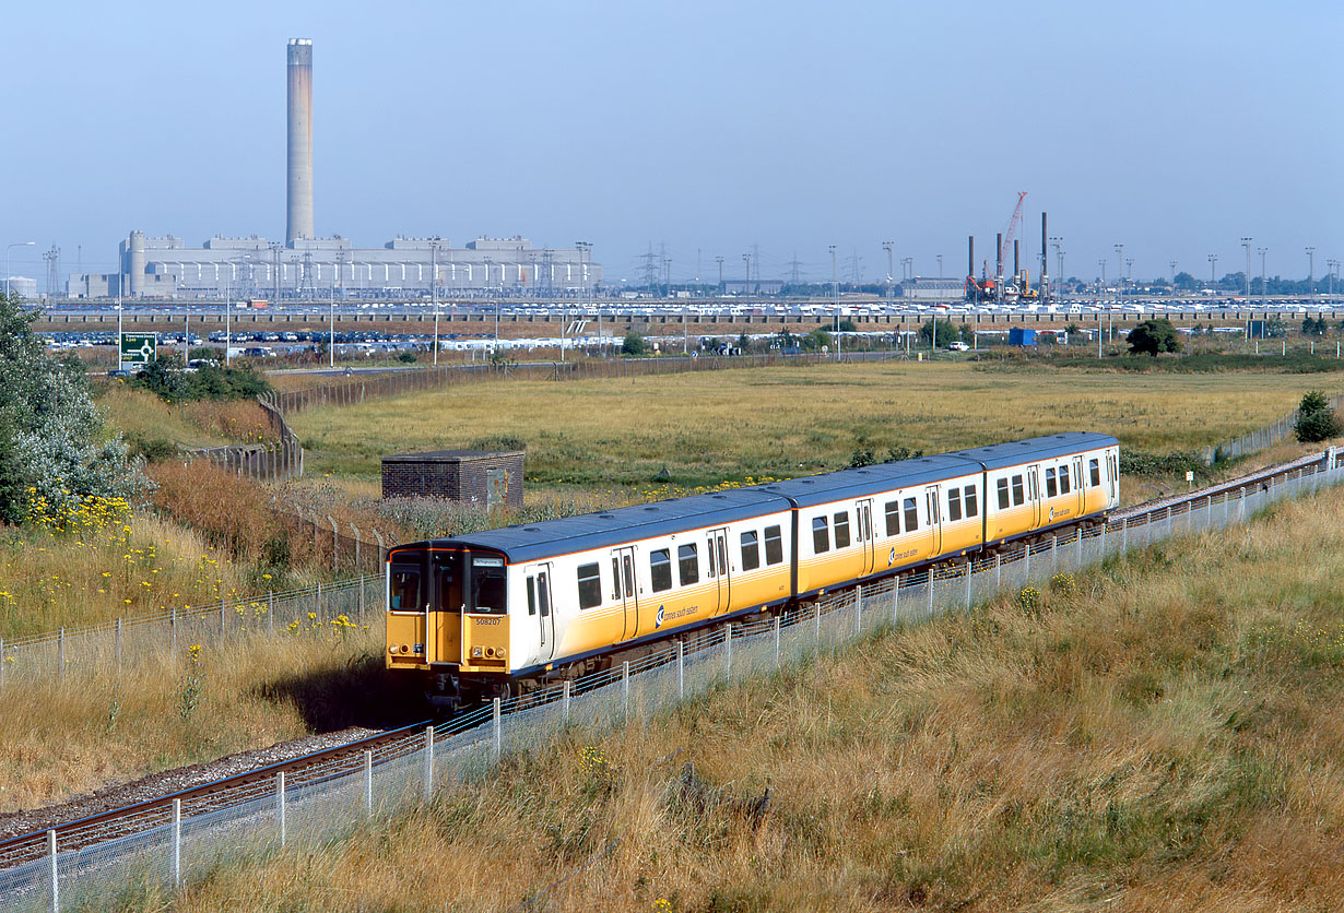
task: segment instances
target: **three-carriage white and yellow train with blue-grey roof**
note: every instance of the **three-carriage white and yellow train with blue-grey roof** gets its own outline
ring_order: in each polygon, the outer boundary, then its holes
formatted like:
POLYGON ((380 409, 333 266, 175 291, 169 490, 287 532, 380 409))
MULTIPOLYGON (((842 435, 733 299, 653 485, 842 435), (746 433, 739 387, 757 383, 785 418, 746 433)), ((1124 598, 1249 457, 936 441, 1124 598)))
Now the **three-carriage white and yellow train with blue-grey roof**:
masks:
POLYGON ((453 710, 1118 505, 1120 443, 1067 432, 399 544, 386 666, 453 710))

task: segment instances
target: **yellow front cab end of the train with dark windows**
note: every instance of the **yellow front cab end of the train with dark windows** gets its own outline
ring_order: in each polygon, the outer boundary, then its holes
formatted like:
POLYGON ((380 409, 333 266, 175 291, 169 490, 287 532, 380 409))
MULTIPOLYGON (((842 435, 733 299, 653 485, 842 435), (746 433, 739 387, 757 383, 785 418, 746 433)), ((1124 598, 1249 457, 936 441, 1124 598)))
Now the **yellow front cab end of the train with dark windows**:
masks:
POLYGON ((504 555, 433 544, 387 557, 387 667, 426 674, 431 702, 454 709, 509 675, 504 555))

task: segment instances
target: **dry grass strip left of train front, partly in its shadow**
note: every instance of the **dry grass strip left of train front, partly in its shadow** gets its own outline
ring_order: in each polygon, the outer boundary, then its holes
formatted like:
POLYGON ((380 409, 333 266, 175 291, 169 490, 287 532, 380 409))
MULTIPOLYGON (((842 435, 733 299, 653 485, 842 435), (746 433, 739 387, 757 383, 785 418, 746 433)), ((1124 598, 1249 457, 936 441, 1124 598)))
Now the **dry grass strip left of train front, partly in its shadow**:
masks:
POLYGON ((386 681, 380 623, 313 620, 276 638, 192 646, 120 681, 109 669, 0 689, 0 812, 313 732, 386 725, 417 708, 386 681))

